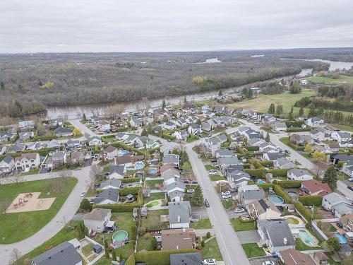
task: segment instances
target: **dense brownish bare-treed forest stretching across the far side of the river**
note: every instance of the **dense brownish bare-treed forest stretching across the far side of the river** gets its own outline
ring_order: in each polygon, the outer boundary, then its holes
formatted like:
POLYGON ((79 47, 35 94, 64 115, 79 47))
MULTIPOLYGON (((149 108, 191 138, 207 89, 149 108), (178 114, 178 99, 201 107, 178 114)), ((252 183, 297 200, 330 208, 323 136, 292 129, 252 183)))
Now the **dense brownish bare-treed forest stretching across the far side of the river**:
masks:
POLYGON ((185 95, 328 67, 316 61, 282 60, 274 51, 252 57, 256 52, 2 54, 0 115, 185 95), (221 62, 205 63, 212 58, 221 62), (197 77, 201 82, 195 82, 197 77))

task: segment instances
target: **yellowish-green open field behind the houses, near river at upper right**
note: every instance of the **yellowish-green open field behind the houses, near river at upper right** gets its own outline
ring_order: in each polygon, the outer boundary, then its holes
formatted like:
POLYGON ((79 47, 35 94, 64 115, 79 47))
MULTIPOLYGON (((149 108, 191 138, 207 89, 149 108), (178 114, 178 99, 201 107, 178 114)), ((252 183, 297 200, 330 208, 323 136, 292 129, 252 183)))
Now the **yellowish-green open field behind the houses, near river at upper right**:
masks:
POLYGON ((290 111, 290 108, 292 107, 292 105, 294 105, 297 100, 300 100, 304 97, 311 97, 312 95, 316 95, 316 91, 311 89, 303 89, 299 94, 261 94, 251 100, 244 100, 242 102, 232 103, 227 106, 234 108, 244 107, 244 109, 254 110, 256 112, 268 112, 268 107, 270 107, 271 103, 274 103, 275 105, 283 105, 283 112, 287 113, 290 111))

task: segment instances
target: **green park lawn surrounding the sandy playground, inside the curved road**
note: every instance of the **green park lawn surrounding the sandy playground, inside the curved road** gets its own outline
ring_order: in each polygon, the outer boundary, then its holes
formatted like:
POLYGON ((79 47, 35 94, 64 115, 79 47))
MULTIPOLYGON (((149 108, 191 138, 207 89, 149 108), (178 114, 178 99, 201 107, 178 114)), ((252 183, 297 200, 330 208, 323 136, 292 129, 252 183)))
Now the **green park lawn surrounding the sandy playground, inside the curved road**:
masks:
POLYGON ((0 203, 5 206, 9 206, 20 193, 42 192, 40 198, 56 198, 48 210, 1 213, 0 238, 4 237, 3 242, 5 244, 18 242, 40 230, 54 218, 76 183, 76 178, 69 177, 65 180, 56 178, 0 185, 0 203), (49 191, 50 194, 47 194, 49 191))

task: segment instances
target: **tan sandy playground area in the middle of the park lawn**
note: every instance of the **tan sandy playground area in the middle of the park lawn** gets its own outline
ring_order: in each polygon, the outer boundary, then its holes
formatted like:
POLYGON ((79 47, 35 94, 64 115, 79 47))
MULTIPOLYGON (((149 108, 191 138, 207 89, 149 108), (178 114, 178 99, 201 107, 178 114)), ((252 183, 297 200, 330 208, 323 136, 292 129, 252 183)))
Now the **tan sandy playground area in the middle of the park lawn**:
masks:
POLYGON ((23 213, 28 211, 48 210, 55 198, 39 198, 41 192, 21 193, 6 209, 6 213, 23 213))

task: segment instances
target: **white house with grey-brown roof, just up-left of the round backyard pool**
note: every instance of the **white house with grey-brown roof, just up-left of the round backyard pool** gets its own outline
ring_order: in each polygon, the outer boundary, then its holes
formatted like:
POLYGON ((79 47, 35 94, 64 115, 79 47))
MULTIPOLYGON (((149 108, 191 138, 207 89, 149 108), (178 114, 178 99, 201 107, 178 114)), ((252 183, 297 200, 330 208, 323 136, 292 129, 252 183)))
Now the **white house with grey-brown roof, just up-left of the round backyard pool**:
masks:
POLYGON ((106 226, 114 227, 114 222, 110 221, 112 217, 111 209, 93 208, 90 213, 83 216, 83 223, 88 228, 88 232, 103 232, 106 226))

